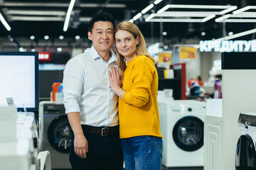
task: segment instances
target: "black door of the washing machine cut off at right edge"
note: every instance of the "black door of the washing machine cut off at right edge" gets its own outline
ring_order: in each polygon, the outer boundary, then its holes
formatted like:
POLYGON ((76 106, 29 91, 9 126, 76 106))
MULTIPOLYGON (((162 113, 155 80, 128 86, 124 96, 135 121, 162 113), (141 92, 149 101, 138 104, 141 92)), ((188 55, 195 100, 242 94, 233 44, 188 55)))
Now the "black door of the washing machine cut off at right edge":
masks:
POLYGON ((256 169, 255 145, 250 135, 241 135, 238 140, 235 153, 236 170, 255 170, 256 169))

